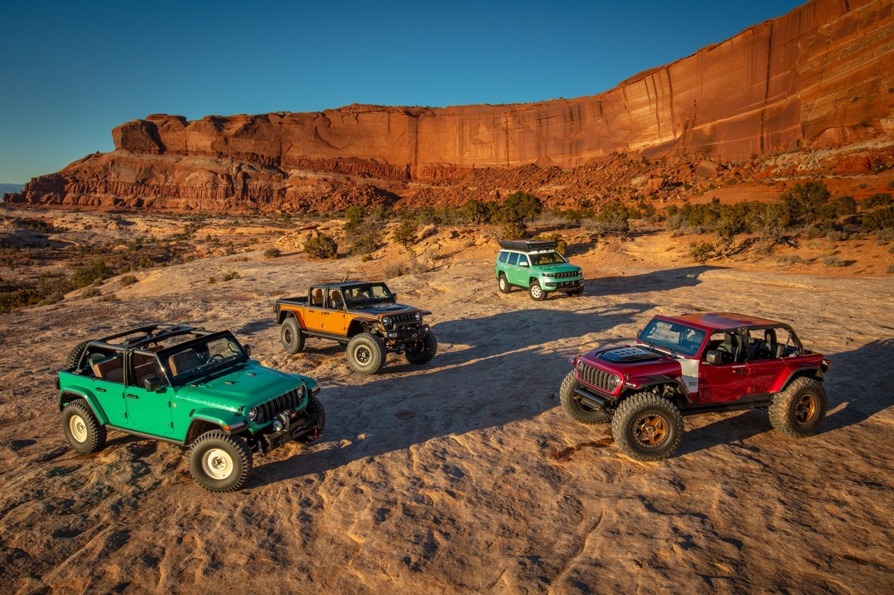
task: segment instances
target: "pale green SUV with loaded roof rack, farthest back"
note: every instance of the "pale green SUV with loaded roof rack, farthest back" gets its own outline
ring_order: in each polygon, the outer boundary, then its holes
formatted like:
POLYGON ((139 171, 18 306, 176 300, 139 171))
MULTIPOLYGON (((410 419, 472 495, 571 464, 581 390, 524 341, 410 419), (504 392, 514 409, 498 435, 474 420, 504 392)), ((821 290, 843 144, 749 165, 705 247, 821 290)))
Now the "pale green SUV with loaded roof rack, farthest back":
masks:
POLYGON ((496 275, 503 293, 509 293, 515 285, 527 288, 531 298, 539 302, 553 291, 564 291, 569 296, 584 292, 584 272, 556 252, 556 242, 502 241, 500 247, 496 275))

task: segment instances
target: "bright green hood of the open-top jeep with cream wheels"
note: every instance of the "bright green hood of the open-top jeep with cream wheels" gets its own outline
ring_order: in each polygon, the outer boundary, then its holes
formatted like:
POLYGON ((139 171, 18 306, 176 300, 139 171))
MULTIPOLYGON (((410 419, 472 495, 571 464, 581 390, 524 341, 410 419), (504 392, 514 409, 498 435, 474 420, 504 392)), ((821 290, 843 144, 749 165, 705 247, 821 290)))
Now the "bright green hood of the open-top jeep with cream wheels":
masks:
POLYGON ((248 408, 279 397, 289 390, 297 389, 302 383, 307 386, 308 391, 316 387, 316 381, 307 376, 249 363, 209 380, 193 381, 180 387, 177 393, 196 405, 236 411, 240 406, 248 408))

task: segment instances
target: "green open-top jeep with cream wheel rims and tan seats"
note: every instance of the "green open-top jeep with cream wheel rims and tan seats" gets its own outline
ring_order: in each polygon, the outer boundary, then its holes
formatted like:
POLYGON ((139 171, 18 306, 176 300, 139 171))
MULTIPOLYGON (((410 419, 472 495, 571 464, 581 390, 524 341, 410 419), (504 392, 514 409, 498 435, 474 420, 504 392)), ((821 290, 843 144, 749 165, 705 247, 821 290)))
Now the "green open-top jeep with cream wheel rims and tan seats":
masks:
POLYGON ((72 349, 59 372, 63 431, 81 453, 106 429, 189 447, 207 490, 238 490, 252 452, 315 440, 325 425, 316 381, 250 359, 230 331, 152 324, 72 349))

